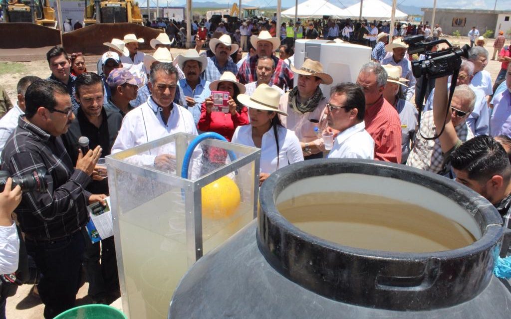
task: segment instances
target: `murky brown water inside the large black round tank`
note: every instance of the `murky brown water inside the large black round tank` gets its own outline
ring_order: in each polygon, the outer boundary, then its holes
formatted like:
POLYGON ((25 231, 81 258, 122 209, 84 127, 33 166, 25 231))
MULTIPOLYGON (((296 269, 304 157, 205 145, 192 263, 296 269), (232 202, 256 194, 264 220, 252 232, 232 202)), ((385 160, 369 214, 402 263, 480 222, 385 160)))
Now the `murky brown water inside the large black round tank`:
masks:
POLYGON ((285 201, 277 209, 309 234, 356 248, 425 253, 457 249, 475 241, 452 219, 375 195, 311 193, 285 201))

